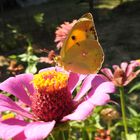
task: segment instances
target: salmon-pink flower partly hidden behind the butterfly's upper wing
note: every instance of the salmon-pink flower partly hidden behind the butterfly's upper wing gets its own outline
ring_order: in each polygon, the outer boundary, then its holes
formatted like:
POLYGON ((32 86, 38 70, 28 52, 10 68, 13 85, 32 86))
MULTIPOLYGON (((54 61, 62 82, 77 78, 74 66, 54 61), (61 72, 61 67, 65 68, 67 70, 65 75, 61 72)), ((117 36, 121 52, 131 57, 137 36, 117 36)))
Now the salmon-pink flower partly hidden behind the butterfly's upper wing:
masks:
POLYGON ((69 31, 73 27, 73 25, 77 22, 77 20, 73 20, 72 23, 64 22, 60 25, 60 27, 57 27, 57 30, 55 32, 55 40, 54 42, 57 42, 57 48, 60 49, 63 45, 64 40, 66 39, 69 31))

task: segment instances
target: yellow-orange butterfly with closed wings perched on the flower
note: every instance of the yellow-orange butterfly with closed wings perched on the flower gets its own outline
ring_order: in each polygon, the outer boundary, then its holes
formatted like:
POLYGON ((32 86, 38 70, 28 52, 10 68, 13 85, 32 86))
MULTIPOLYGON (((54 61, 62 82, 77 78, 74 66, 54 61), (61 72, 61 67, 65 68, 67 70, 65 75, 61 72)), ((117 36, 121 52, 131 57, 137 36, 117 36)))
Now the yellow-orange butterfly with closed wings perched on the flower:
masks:
POLYGON ((83 15, 73 26, 60 52, 60 65, 80 74, 97 73, 104 61, 91 13, 83 15))

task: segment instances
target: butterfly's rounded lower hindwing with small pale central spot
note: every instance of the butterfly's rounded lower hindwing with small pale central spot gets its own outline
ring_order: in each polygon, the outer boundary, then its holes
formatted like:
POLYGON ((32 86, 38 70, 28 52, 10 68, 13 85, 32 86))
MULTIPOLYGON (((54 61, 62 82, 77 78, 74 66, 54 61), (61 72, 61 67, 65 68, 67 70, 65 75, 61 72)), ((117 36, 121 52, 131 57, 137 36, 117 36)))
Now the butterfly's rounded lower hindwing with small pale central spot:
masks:
POLYGON ((67 51, 63 58, 64 68, 82 74, 97 73, 104 58, 100 44, 96 40, 86 39, 79 45, 75 44, 67 51))

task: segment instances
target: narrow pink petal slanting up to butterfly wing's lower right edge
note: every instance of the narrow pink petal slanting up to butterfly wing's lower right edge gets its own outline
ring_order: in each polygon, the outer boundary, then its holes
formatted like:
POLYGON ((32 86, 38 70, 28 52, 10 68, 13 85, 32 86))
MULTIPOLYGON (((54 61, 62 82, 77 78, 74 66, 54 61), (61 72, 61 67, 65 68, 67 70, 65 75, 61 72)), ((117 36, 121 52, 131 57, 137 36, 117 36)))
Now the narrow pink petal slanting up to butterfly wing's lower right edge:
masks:
POLYGON ((74 98, 74 101, 80 100, 80 98, 82 98, 90 90, 90 88, 92 87, 92 81, 96 76, 97 76, 96 74, 90 74, 85 78, 80 88, 80 91, 74 98))

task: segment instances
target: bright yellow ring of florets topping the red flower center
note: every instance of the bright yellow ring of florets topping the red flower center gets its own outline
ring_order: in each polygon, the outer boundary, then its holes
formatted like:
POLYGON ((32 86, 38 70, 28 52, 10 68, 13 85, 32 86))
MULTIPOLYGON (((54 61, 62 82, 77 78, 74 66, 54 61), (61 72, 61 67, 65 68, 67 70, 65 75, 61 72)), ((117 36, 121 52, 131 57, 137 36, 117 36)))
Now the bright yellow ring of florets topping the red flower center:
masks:
POLYGON ((39 91, 53 92, 67 86, 68 75, 55 70, 40 72, 34 75, 33 84, 39 91))

